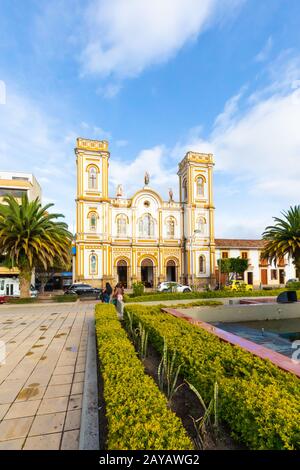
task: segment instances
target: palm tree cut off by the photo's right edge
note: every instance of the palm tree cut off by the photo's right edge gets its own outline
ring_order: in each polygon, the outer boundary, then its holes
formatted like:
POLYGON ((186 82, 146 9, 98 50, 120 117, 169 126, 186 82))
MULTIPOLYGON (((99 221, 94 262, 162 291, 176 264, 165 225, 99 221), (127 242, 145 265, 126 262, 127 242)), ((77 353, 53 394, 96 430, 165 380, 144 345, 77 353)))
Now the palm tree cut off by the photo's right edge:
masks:
POLYGON ((266 227, 263 239, 266 240, 262 258, 270 262, 284 255, 293 259, 296 276, 300 276, 300 205, 282 212, 283 219, 273 217, 275 225, 266 227))

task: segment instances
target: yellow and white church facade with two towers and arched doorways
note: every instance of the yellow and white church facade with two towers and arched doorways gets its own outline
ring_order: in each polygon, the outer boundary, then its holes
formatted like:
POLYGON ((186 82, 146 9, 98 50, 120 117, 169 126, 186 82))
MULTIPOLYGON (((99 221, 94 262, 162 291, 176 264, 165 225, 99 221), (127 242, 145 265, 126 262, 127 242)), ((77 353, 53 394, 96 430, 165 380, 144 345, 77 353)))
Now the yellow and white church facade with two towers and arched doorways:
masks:
POLYGON ((74 280, 103 286, 141 281, 212 285, 215 280, 213 155, 188 152, 178 166, 179 201, 151 188, 111 197, 108 142, 77 139, 74 280))

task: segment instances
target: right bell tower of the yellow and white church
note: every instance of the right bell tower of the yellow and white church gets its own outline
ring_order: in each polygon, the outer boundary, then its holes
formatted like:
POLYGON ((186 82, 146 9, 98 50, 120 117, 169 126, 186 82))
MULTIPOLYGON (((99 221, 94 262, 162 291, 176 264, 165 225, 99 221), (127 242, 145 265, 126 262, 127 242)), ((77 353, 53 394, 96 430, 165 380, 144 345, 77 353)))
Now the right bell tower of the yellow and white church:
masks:
POLYGON ((179 164, 183 207, 184 275, 193 285, 214 283, 213 155, 187 152, 179 164))

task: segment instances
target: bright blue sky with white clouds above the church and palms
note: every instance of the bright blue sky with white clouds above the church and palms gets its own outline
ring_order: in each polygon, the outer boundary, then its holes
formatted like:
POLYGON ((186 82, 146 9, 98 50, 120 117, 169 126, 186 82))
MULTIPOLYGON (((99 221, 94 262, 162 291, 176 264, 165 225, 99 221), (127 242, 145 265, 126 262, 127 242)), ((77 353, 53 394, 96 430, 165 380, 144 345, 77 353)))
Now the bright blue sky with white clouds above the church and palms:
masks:
POLYGON ((109 140, 111 195, 145 170, 176 195, 185 152, 213 152, 216 237, 259 237, 299 203, 299 18, 298 0, 0 0, 0 168, 33 172, 72 229, 77 136, 109 140))

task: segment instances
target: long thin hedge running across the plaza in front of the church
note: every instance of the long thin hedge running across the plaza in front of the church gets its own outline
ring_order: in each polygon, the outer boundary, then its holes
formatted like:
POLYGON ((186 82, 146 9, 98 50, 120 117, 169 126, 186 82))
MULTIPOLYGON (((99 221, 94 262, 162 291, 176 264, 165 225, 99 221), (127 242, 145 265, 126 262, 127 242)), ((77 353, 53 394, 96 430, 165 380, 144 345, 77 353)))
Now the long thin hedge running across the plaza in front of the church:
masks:
MULTIPOLYGON (((204 292, 186 292, 186 293, 172 293, 172 292, 157 292, 139 297, 131 297, 130 295, 124 296, 124 301, 127 303, 133 302, 151 302, 156 300, 181 300, 181 299, 218 299, 226 297, 272 297, 279 295, 287 289, 272 289, 272 290, 254 290, 254 291, 231 291, 231 290, 218 290, 218 291, 204 291, 204 292)), ((300 298, 300 290, 298 291, 298 298, 300 298)))

